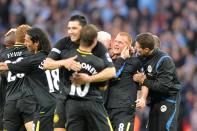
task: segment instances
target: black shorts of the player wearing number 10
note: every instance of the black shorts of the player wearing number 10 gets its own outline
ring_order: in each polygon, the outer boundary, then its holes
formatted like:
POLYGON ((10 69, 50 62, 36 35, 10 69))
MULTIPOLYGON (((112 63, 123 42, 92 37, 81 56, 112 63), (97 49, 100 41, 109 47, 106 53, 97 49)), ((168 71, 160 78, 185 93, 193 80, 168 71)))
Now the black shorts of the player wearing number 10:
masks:
POLYGON ((68 99, 66 118, 68 131, 112 131, 103 104, 96 101, 68 99))

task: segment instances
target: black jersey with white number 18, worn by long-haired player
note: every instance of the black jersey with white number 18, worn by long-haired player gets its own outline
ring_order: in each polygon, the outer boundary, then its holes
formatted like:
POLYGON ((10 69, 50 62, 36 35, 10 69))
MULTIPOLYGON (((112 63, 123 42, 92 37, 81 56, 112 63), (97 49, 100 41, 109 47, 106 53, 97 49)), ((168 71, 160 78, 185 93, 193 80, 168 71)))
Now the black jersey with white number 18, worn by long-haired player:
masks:
POLYGON ((39 52, 19 63, 8 64, 10 71, 24 72, 23 86, 30 86, 39 104, 39 112, 44 115, 52 115, 56 103, 56 95, 59 93, 59 69, 43 70, 43 61, 47 53, 39 52))

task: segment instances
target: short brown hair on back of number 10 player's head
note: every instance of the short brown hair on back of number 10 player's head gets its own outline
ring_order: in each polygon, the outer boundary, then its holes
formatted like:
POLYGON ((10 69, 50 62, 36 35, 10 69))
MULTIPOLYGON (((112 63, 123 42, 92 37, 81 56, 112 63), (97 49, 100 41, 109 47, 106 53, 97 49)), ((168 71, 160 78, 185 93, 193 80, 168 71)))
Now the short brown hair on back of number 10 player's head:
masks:
POLYGON ((95 39, 97 39, 98 28, 95 25, 85 25, 80 32, 80 42, 84 46, 91 46, 95 39))

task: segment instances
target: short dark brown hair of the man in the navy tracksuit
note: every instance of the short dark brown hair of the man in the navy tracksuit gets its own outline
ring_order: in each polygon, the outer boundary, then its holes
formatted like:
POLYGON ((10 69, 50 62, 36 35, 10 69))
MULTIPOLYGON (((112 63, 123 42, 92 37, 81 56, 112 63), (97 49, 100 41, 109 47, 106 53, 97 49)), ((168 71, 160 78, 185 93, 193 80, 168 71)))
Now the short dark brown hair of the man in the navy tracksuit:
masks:
POLYGON ((142 49, 149 48, 150 50, 153 50, 155 47, 155 40, 153 35, 149 32, 137 35, 136 41, 140 44, 142 49))

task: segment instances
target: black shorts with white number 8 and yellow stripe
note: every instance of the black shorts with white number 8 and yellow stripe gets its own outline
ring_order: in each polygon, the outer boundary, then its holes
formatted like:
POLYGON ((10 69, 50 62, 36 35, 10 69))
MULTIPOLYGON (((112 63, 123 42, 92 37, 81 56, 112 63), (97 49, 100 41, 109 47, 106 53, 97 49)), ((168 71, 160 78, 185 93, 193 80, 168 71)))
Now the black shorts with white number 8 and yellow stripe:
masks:
POLYGON ((108 109, 108 114, 114 131, 133 131, 135 109, 112 108, 108 109))

